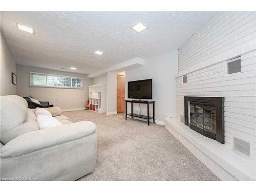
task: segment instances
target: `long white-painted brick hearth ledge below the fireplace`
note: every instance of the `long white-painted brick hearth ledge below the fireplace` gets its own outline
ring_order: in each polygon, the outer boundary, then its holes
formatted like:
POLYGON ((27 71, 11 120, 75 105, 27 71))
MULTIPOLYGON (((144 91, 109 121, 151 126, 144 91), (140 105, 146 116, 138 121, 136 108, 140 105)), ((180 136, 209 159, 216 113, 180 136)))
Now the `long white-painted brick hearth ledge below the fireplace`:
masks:
POLYGON ((256 180, 255 162, 243 159, 230 148, 191 130, 176 118, 165 117, 165 127, 221 180, 256 180))

